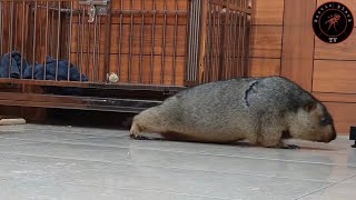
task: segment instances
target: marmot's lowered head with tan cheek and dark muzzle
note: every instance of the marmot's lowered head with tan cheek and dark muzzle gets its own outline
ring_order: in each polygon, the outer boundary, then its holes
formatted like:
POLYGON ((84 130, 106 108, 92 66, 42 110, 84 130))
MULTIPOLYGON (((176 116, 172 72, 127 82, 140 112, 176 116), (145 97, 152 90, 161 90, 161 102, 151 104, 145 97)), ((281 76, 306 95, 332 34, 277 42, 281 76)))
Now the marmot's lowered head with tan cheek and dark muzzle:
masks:
POLYGON ((293 138, 330 142, 336 139, 333 117, 317 101, 305 103, 288 117, 289 134, 293 138))

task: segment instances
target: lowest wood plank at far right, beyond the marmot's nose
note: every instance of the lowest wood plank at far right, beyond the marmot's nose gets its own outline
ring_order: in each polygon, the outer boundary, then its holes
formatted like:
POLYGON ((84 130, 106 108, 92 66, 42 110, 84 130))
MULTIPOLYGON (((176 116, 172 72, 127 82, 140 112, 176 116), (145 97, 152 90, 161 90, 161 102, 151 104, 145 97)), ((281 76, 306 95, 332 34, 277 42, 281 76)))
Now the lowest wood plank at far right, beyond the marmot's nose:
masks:
POLYGON ((356 103, 325 102, 325 106, 334 118, 336 132, 348 134, 349 127, 356 123, 356 103))

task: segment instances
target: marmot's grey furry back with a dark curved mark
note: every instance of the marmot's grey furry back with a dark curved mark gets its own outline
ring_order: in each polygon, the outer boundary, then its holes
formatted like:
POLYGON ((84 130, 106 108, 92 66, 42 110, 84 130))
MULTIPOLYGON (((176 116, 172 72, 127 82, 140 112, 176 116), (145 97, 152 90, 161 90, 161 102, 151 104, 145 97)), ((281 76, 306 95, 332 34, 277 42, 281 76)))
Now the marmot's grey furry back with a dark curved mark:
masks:
POLYGON ((230 122, 228 119, 234 118, 253 123, 261 114, 297 111, 306 101, 315 99, 287 79, 270 77, 201 84, 178 93, 165 103, 168 108, 177 104, 179 109, 176 111, 185 123, 220 127, 219 122, 211 122, 218 119, 230 122))

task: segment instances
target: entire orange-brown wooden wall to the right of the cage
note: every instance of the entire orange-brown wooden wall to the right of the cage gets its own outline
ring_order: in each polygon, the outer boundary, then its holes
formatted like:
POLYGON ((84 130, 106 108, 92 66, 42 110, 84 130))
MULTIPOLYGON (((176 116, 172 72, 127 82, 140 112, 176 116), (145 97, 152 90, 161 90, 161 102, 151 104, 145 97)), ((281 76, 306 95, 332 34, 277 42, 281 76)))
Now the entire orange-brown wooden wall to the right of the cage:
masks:
MULTIPOLYGON (((296 81, 325 102, 337 132, 348 133, 356 111, 356 32, 338 44, 315 37, 312 18, 317 6, 326 1, 255 0, 249 76, 280 74, 296 81)), ((356 10, 356 1, 340 2, 356 10)))

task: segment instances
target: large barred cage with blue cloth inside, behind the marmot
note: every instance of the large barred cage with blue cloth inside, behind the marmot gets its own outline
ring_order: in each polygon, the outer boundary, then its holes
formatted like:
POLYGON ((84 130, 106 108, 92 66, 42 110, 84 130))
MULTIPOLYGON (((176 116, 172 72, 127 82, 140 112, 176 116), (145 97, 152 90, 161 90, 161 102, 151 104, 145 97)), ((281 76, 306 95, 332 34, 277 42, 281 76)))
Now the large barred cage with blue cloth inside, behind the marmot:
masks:
POLYGON ((246 77, 251 0, 1 0, 0 104, 139 112, 246 77))

